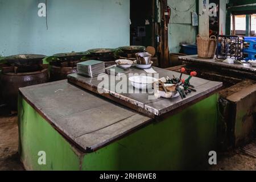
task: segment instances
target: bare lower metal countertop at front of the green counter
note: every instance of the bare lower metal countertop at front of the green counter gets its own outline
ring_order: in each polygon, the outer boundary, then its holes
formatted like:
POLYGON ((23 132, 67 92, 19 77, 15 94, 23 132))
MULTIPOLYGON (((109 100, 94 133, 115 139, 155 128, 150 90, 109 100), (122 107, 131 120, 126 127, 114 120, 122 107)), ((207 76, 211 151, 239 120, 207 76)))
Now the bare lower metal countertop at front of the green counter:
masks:
POLYGON ((97 150, 151 121, 67 80, 20 88, 20 92, 59 133, 86 152, 97 150))

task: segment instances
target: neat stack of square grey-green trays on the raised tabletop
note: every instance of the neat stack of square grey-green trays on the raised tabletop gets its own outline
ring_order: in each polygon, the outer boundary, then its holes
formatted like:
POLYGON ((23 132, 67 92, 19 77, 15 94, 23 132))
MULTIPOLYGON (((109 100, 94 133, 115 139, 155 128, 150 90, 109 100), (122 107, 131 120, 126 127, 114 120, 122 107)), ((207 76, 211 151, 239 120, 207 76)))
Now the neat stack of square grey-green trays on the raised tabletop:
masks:
POLYGON ((77 63, 77 73, 87 77, 96 77, 100 75, 100 73, 105 73, 105 64, 97 60, 77 63))

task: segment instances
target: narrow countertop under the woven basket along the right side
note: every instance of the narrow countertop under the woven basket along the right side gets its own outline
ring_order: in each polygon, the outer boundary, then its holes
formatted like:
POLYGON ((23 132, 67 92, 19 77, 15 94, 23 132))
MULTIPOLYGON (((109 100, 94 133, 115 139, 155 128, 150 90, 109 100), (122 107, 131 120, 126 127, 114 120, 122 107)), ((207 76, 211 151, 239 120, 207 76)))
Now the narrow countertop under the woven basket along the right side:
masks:
POLYGON ((226 64, 222 63, 221 61, 216 61, 214 59, 203 59, 200 57, 197 57, 197 55, 191 55, 191 56, 180 56, 180 60, 183 60, 184 63, 187 61, 188 63, 204 63, 208 65, 217 65, 224 68, 229 69, 237 69, 240 71, 249 71, 249 72, 256 72, 256 68, 251 67, 250 64, 226 64))

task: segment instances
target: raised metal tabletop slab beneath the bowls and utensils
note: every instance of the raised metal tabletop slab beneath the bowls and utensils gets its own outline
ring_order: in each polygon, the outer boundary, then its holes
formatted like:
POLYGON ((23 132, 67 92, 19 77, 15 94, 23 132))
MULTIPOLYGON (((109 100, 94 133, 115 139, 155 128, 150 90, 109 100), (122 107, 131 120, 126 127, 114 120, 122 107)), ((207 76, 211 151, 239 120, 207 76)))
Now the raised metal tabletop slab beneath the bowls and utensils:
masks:
MULTIPOLYGON (((179 77, 180 75, 180 73, 167 71, 166 69, 160 69, 156 67, 153 68, 156 72, 159 73, 159 77, 172 77, 173 75, 175 77, 179 77)), ((144 72, 142 69, 137 68, 131 68, 130 73, 146 74, 146 72, 144 72)), ((104 74, 104 77, 109 78, 110 80, 110 75, 104 74)), ((183 77, 188 78, 188 75, 183 75, 183 77)), ((128 78, 126 76, 121 76, 121 79, 126 79, 126 82, 129 83, 129 85, 127 86, 126 93, 119 94, 116 93, 115 90, 110 89, 115 88, 115 85, 118 82, 110 82, 108 86, 109 88, 105 88, 104 86, 98 87, 98 84, 100 84, 102 80, 98 80, 97 77, 88 78, 77 74, 72 74, 68 76, 69 82, 97 94, 100 94, 99 91, 104 90, 105 93, 101 94, 102 96, 107 97, 115 102, 120 102, 122 105, 130 107, 134 110, 138 110, 143 114, 147 114, 148 117, 155 117, 166 114, 174 109, 177 109, 178 107, 188 104, 189 102, 197 100, 200 97, 204 97, 207 94, 221 88, 222 86, 222 82, 208 81, 201 78, 193 77, 191 80, 191 84, 196 87, 197 92, 191 93, 184 100, 182 100, 180 97, 177 97, 175 99, 159 98, 157 100, 148 100, 148 93, 134 93, 134 88, 133 86, 131 86, 128 78)))

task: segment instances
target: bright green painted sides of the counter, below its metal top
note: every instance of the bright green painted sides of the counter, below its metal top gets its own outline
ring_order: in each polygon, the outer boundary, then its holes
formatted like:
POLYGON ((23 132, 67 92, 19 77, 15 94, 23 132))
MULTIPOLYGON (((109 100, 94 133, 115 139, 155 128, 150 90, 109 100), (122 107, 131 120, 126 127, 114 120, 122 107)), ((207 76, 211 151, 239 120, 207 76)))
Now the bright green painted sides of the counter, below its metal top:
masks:
POLYGON ((217 100, 214 94, 96 152, 82 154, 19 97, 19 154, 24 166, 34 170, 195 169, 208 164, 209 151, 216 150, 217 100), (38 164, 39 151, 46 151, 46 165, 38 164))

